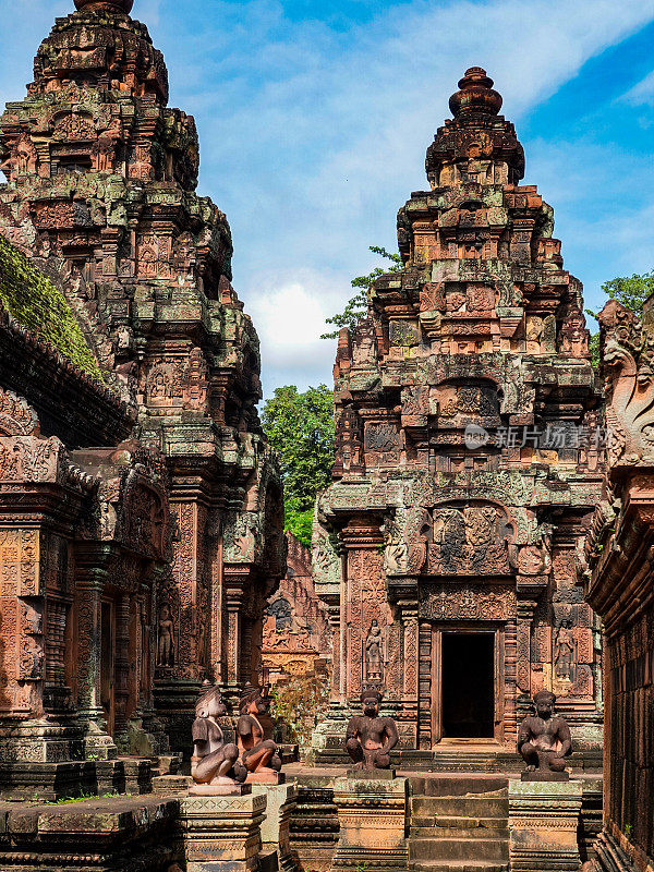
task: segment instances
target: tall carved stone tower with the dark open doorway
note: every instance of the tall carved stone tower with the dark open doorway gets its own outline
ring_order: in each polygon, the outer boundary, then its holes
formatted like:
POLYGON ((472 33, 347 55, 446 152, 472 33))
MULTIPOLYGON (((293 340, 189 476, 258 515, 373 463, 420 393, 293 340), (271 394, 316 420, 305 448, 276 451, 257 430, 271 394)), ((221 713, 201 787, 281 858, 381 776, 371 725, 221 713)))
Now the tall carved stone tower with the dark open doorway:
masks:
POLYGON ((552 207, 520 185, 493 81, 472 68, 459 87, 429 190, 398 215, 403 268, 339 337, 314 537, 335 652, 324 759, 368 685, 407 749, 510 746, 542 688, 578 747, 600 737, 597 626, 574 574, 603 458, 582 288, 552 207))

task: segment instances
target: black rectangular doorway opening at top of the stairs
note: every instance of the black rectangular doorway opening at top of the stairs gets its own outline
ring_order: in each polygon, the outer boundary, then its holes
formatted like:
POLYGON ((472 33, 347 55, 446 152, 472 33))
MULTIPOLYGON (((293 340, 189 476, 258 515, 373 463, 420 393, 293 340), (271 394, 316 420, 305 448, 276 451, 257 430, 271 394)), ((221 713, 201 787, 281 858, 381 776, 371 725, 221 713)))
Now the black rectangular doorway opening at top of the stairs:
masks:
POLYGON ((443 634, 443 738, 492 739, 495 729, 493 633, 443 634))

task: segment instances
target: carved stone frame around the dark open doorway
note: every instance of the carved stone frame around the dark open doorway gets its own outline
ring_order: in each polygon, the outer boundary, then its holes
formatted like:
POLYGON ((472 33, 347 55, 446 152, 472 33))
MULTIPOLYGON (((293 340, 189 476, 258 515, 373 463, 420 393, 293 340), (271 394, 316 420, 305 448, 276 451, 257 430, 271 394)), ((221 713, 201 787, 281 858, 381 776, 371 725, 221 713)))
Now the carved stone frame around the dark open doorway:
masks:
MULTIPOLYGON (((438 622, 432 625, 432 743, 443 741, 443 637, 469 634, 493 637, 493 737, 504 741, 505 715, 505 627, 497 623, 438 622)), ((480 739, 480 741, 487 741, 480 739)))

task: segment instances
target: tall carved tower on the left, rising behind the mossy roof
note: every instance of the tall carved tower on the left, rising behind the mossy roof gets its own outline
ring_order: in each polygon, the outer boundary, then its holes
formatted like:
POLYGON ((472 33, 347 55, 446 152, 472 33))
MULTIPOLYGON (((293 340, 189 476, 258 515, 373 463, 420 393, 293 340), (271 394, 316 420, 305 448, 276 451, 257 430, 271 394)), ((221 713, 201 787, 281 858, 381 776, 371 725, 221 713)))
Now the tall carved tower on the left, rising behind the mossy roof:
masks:
MULTIPOLYGON (((181 747, 206 676, 229 697, 255 674, 261 616, 283 574, 281 486, 229 225, 195 193, 195 123, 168 107, 164 58, 132 0, 75 5, 0 119, 0 232, 61 282, 141 440, 166 456, 175 533, 156 688, 181 747)), ((93 572, 87 586, 99 614, 93 572)), ((110 729, 113 707, 107 695, 86 715, 110 729)))

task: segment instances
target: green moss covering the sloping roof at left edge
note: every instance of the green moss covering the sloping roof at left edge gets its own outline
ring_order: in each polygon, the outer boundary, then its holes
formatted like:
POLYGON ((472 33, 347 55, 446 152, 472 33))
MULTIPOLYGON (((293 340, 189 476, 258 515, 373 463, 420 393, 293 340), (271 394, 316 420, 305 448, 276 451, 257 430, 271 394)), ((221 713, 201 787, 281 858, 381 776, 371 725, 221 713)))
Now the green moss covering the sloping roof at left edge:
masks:
POLYGON ((63 293, 0 234, 0 304, 19 324, 104 383, 98 362, 63 293))

